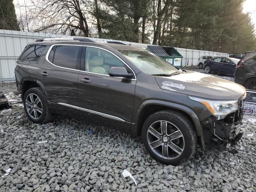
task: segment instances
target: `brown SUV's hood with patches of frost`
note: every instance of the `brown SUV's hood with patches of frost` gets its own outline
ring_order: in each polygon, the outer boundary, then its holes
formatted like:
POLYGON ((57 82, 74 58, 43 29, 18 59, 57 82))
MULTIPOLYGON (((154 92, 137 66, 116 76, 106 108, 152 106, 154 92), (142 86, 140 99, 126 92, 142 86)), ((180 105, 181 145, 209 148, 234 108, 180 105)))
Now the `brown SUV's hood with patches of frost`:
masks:
POLYGON ((155 78, 161 89, 208 99, 238 100, 246 92, 239 84, 199 72, 155 78))

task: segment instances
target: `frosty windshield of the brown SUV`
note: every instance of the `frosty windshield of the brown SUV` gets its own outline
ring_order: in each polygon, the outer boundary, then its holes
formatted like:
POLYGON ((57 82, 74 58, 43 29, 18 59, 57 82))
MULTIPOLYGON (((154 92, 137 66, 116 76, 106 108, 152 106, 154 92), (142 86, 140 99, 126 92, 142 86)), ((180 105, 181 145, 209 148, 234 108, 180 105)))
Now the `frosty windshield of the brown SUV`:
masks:
POLYGON ((172 74, 178 70, 172 64, 162 60, 146 50, 118 50, 126 56, 140 70, 149 75, 172 74))

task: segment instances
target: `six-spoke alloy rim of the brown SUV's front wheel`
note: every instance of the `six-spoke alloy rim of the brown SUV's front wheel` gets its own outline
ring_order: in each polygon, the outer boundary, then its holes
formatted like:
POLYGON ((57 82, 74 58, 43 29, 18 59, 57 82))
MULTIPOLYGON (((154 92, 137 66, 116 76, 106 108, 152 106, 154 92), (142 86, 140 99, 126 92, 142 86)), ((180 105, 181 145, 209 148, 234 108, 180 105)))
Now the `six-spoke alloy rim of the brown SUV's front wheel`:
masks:
POLYGON ((147 140, 151 150, 160 158, 172 160, 184 151, 184 136, 177 126, 168 121, 156 121, 150 125, 147 140))

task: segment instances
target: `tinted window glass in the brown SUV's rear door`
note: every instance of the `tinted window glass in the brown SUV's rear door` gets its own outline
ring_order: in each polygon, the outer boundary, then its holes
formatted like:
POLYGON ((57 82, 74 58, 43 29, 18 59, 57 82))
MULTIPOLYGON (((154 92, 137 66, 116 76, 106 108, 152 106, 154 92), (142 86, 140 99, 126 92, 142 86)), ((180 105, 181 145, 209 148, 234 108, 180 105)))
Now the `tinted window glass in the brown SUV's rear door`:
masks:
POLYGON ((52 48, 48 60, 59 67, 76 69, 81 50, 81 46, 57 45, 52 48))

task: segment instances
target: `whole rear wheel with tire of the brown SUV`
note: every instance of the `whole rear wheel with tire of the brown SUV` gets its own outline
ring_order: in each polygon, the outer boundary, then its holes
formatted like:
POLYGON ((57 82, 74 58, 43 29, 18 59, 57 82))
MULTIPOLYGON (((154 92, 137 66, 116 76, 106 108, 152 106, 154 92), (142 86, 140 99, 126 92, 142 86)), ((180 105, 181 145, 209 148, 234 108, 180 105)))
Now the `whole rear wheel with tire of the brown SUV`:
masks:
POLYGON ((26 91, 23 105, 26 115, 34 123, 46 123, 53 119, 53 114, 49 111, 47 105, 46 96, 39 87, 30 88, 26 91))

